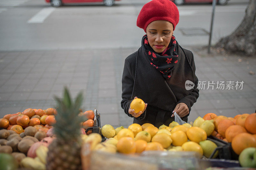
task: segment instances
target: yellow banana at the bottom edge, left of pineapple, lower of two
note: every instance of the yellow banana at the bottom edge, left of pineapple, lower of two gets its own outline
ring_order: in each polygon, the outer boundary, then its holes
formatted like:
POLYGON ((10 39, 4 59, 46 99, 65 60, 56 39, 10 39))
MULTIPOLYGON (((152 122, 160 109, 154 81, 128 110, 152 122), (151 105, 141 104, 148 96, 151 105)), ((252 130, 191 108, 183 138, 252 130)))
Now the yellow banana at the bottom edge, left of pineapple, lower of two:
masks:
POLYGON ((34 170, 46 170, 46 166, 42 162, 30 157, 22 159, 20 163, 25 168, 31 168, 34 170))

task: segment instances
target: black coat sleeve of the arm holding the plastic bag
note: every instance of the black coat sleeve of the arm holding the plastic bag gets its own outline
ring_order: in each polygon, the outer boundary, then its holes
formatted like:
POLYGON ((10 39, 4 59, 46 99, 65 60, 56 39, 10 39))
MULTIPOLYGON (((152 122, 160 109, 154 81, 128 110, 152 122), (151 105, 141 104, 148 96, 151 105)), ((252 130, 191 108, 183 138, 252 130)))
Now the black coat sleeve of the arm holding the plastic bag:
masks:
MULTIPOLYGON (((194 86, 193 90, 187 96, 183 97, 180 101, 177 102, 177 104, 185 103, 188 106, 189 113, 190 113, 191 107, 193 106, 194 103, 196 103, 196 100, 199 97, 199 89, 197 89, 198 78, 195 74, 196 65, 195 65, 193 53, 192 53, 191 67, 192 67, 193 73, 194 73, 195 86, 194 86)), ((188 113, 188 115, 189 115, 189 113, 188 113)), ((186 115, 185 117, 188 117, 188 115, 186 115)))

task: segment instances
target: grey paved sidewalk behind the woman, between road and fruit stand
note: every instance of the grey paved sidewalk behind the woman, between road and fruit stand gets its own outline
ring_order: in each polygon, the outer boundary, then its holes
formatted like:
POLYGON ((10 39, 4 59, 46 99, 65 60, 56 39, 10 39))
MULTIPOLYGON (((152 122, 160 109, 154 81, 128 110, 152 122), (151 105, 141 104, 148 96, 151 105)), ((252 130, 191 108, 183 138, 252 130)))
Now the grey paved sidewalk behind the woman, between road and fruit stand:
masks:
MULTIPOLYGON (((185 47, 192 50, 191 47, 185 47)), ((83 90, 83 110, 97 108, 101 125, 128 127, 133 119, 121 108, 124 59, 138 48, 0 52, 0 118, 27 108, 55 106, 63 87, 72 97, 83 90)), ((256 58, 208 56, 193 51, 196 75, 206 81, 188 121, 212 112, 234 117, 256 109, 256 58), (208 81, 244 81, 243 89, 207 89, 208 81)), ((235 88, 235 85, 233 86, 235 88)))

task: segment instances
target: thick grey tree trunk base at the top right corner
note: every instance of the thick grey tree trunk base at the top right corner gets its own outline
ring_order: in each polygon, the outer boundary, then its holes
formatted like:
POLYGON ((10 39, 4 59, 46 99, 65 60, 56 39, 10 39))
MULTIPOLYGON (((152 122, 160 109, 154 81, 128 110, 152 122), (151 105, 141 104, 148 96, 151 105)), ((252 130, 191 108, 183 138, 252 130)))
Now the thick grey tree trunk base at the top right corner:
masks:
POLYGON ((215 48, 229 53, 256 55, 256 0, 249 1, 241 24, 233 33, 221 38, 215 48))

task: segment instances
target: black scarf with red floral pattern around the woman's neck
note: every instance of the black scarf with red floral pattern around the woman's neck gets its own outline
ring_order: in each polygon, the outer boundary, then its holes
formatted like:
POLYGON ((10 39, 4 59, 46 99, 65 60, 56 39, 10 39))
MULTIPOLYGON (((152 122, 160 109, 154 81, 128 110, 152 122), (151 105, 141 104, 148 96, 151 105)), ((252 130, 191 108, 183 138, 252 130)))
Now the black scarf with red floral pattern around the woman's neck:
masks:
POLYGON ((156 53, 148 43, 148 36, 142 37, 141 47, 145 52, 149 63, 160 71, 167 80, 172 76, 172 70, 178 62, 177 44, 175 37, 172 35, 170 44, 162 53, 156 53))

